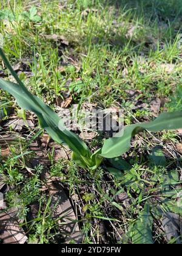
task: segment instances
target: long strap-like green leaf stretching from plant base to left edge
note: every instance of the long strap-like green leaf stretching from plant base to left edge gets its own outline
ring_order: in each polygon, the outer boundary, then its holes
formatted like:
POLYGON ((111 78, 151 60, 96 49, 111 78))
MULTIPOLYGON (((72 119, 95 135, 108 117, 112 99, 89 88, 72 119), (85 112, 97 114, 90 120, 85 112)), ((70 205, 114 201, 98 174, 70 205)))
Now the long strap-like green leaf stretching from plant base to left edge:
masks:
MULTIPOLYGON (((0 51, 0 55, 4 60, 5 65, 7 65, 7 68, 10 69, 10 72, 18 82, 18 84, 15 84, 0 79, 0 88, 12 94, 21 108, 34 112, 38 116, 39 123, 41 124, 42 128, 49 133, 53 140, 58 143, 66 143, 73 152, 79 155, 80 158, 90 158, 91 152, 84 141, 81 140, 75 133, 66 129, 66 126, 64 126, 61 118, 59 118, 59 116, 53 112, 52 108, 45 105, 41 99, 34 96, 27 90, 15 71, 13 71, 12 66, 6 59, 2 50, 0 51)), ((92 161, 90 159, 90 165, 92 165, 91 162, 92 161)))

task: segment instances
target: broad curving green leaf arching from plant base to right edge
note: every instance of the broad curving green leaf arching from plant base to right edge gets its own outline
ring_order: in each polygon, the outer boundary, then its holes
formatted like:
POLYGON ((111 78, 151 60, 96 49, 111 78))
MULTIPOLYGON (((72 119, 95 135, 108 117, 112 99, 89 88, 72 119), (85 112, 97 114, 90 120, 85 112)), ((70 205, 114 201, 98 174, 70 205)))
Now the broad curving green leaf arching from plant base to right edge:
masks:
POLYGON ((124 131, 118 133, 117 137, 104 141, 101 156, 106 158, 119 157, 130 148, 133 136, 143 130, 160 132, 161 130, 174 130, 182 127, 182 112, 162 113, 158 118, 149 123, 132 124, 124 127, 124 131), (120 137, 121 135, 121 137, 120 137))

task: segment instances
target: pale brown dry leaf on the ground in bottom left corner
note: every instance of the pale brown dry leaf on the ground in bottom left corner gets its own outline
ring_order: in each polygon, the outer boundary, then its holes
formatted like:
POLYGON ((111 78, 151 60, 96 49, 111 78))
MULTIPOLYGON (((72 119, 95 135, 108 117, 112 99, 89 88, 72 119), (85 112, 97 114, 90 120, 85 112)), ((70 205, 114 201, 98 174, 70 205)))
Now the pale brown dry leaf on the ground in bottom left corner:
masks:
POLYGON ((3 244, 24 244, 27 236, 18 221, 7 212, 0 213, 0 239, 3 244))

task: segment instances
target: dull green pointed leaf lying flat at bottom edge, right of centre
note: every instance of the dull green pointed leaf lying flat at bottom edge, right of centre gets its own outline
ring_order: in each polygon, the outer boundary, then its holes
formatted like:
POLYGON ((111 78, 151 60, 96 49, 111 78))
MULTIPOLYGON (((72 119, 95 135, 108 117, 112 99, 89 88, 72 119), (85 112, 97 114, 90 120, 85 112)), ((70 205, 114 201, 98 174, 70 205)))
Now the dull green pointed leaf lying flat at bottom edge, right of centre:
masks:
POLYGON ((150 205, 147 202, 133 226, 131 235, 133 244, 153 244, 152 224, 153 218, 150 213, 150 205))

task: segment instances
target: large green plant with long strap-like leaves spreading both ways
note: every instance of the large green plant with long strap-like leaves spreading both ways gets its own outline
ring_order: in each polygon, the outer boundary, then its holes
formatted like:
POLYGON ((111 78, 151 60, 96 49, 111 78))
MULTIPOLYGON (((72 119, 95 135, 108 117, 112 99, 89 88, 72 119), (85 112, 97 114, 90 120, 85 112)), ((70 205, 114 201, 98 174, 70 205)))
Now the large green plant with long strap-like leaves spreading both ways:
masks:
POLYGON ((12 94, 21 108, 34 112, 38 116, 41 127, 49 133, 53 140, 59 144, 67 144, 73 151, 73 160, 83 168, 96 169, 104 157, 114 158, 124 154, 130 148, 131 138, 139 132, 144 130, 159 132, 164 129, 171 130, 182 127, 182 112, 162 113, 157 119, 149 123, 132 124, 124 127, 124 130, 121 130, 117 137, 105 140, 103 147, 92 153, 83 140, 66 129, 59 116, 48 105, 45 105, 41 99, 33 96, 27 90, 1 48, 0 55, 18 83, 0 79, 0 87, 12 94))

